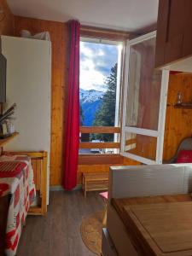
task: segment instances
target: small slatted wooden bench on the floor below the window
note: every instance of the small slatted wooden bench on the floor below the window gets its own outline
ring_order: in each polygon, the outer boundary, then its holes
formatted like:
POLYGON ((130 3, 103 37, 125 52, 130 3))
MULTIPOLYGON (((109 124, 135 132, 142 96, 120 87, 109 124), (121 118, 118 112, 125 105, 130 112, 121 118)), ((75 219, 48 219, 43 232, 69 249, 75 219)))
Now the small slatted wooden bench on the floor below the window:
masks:
POLYGON ((83 172, 83 191, 107 190, 108 172, 83 172))

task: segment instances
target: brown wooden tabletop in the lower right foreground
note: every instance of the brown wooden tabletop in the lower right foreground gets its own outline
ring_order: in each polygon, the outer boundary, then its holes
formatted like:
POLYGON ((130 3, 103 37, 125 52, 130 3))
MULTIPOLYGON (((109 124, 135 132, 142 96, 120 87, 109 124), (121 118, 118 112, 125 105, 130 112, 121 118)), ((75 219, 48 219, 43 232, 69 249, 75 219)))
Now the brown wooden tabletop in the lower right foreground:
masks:
POLYGON ((192 198, 190 195, 115 199, 139 255, 192 255, 192 198))

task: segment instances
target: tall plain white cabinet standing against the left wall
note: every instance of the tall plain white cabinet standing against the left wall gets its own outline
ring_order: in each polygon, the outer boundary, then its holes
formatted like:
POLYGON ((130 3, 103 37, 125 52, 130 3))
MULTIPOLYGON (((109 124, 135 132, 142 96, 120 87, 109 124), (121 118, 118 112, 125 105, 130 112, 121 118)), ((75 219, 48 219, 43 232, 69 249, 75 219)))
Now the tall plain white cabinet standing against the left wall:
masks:
POLYGON ((49 184, 51 43, 6 36, 1 39, 7 59, 5 107, 17 104, 14 124, 20 133, 3 149, 47 151, 49 184))

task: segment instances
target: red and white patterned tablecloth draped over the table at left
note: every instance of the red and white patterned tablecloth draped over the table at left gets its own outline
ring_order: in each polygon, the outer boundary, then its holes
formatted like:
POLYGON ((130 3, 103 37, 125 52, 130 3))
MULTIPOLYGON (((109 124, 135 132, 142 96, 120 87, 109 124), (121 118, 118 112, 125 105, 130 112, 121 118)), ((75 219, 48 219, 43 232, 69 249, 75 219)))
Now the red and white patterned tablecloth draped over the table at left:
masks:
POLYGON ((20 240, 22 224, 35 198, 32 164, 23 155, 0 157, 0 196, 11 195, 6 231, 6 254, 14 256, 20 240))

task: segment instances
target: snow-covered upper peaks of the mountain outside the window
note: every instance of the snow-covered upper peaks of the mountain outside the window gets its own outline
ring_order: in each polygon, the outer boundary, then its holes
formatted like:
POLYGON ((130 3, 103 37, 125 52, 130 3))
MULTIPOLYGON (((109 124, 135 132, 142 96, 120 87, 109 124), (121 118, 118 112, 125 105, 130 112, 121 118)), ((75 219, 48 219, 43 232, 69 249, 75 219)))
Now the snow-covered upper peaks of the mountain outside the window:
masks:
POLYGON ((104 95, 103 91, 80 89, 80 102, 81 103, 96 102, 101 100, 103 95, 104 95))

